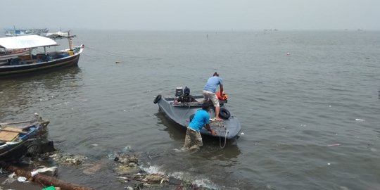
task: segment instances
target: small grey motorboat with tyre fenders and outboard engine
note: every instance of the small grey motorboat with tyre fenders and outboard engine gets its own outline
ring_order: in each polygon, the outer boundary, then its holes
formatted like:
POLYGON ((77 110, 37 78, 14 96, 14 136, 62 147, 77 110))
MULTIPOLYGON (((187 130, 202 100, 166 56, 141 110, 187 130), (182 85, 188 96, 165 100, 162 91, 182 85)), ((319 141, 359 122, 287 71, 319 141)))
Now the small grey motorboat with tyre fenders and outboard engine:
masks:
MULTIPOLYGON (((181 96, 183 89, 181 87, 176 89, 175 97, 181 96)), ((203 95, 193 96, 196 102, 189 103, 175 103, 175 97, 164 97, 158 94, 153 100, 153 103, 158 103, 160 111, 163 111, 167 118, 173 120, 182 127, 187 127, 197 110, 202 108, 203 95)), ((216 137, 224 139, 237 139, 241 132, 241 125, 238 118, 227 110, 227 100, 220 100, 220 118, 222 121, 215 120, 215 107, 210 102, 210 127, 217 132, 216 137)), ((205 127, 201 129, 202 135, 212 136, 205 127)), ((214 136, 213 136, 214 137, 214 136)))

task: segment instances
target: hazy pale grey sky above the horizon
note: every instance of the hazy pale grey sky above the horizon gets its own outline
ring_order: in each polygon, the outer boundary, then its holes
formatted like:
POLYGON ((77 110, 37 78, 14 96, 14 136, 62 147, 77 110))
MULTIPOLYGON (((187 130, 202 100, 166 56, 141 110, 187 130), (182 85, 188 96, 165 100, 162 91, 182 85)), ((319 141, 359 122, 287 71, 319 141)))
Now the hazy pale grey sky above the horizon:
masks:
POLYGON ((1 0, 0 27, 380 30, 380 0, 1 0))

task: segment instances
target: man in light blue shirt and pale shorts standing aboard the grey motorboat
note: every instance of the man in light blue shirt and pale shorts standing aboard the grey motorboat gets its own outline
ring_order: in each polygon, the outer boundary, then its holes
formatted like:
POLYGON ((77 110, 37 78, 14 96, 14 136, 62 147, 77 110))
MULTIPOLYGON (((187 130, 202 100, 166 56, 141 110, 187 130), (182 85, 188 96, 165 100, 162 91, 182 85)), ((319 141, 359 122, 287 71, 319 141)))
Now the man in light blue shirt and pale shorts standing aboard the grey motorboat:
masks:
POLYGON ((205 87, 203 87, 203 97, 204 102, 208 102, 209 100, 213 101, 213 104, 215 106, 215 119, 222 120, 219 118, 220 105, 219 100, 215 94, 217 91, 217 85, 220 87, 220 94, 223 94, 223 80, 221 77, 219 77, 219 74, 217 72, 214 72, 213 77, 210 77, 207 80, 205 87))

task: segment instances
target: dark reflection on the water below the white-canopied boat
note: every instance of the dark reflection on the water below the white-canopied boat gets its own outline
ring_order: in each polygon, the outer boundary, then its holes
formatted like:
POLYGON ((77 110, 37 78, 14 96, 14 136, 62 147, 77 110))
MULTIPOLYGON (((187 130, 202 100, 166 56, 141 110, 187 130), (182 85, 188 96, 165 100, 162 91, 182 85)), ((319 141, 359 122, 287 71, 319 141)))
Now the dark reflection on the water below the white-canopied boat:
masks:
MULTIPOLYGON (((0 113, 8 115, 10 111, 15 115, 32 108, 39 101, 53 99, 60 94, 59 89, 67 87, 68 83, 77 82, 80 68, 71 67, 52 72, 38 72, 33 76, 17 76, 2 78, 0 82, 0 113), (49 91, 49 94, 45 92, 49 91), (7 112, 8 114, 5 114, 7 112)), ((75 89, 72 89, 75 91, 75 89)), ((11 118, 13 119, 13 118, 11 118)), ((17 120, 18 118, 14 118, 17 120)))

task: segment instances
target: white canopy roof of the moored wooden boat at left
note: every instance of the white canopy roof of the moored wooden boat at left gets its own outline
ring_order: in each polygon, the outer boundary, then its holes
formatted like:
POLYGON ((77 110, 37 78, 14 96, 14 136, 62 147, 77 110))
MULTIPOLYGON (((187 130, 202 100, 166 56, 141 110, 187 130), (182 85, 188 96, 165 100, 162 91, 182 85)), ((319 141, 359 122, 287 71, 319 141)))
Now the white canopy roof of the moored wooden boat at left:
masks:
POLYGON ((41 37, 39 35, 0 38, 0 46, 3 46, 5 49, 23 49, 57 45, 57 42, 53 39, 41 37))

